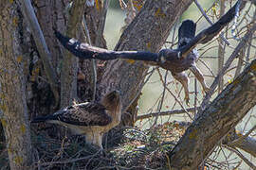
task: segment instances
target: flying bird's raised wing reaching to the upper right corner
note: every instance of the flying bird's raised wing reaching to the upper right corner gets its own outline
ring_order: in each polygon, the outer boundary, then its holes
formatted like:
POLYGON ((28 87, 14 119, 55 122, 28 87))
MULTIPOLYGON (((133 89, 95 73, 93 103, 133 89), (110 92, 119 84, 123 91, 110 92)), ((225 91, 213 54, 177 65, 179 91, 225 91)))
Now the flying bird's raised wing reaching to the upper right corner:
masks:
MULTIPOLYGON (((245 3, 243 3, 244 6, 245 3)), ((212 40, 225 26, 227 26, 230 21, 234 18, 236 14, 236 8, 241 8, 241 1, 238 0, 236 4, 229 9, 229 11, 223 15, 216 23, 212 26, 202 30, 199 34, 197 34, 190 42, 186 45, 179 47, 175 51, 179 52, 179 56, 181 58, 187 57, 188 54, 192 52, 192 49, 198 43, 207 43, 212 40)))

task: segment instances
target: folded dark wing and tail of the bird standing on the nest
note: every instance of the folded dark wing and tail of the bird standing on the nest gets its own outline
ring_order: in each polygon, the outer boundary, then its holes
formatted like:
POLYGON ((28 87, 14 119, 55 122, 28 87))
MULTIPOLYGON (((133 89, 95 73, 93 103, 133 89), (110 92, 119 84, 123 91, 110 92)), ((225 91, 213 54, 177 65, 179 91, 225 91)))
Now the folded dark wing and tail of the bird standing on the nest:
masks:
POLYGON ((87 102, 58 110, 45 117, 37 117, 32 123, 59 121, 75 126, 106 126, 112 122, 106 111, 100 103, 87 102))

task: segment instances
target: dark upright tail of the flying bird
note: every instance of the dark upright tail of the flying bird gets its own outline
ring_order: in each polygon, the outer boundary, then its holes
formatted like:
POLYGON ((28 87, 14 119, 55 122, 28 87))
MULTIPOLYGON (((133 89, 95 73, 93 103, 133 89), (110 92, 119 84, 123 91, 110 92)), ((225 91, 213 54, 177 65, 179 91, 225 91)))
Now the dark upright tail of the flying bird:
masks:
POLYGON ((178 47, 186 45, 194 38, 196 24, 192 20, 186 20, 178 29, 178 47))

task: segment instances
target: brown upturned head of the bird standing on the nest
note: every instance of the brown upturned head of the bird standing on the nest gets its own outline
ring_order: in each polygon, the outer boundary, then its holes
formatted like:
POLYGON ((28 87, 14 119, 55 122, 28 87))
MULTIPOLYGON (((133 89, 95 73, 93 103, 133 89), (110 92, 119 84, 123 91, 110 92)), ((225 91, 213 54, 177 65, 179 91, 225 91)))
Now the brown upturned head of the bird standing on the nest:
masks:
POLYGON ((121 102, 120 102, 120 93, 119 91, 113 91, 111 93, 107 93, 101 100, 101 104, 107 109, 107 110, 113 110, 117 111, 121 108, 121 102))

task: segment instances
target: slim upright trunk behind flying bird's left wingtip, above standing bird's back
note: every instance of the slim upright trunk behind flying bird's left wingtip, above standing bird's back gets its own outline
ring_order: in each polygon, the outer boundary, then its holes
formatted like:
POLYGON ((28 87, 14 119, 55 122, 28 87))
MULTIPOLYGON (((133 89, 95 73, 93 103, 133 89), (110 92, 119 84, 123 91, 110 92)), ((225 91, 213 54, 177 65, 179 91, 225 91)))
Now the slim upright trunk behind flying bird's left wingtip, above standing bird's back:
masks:
MULTIPOLYGON (((80 35, 83 9, 83 0, 73 1, 67 23, 67 35, 71 37, 77 37, 76 34, 80 35)), ((77 98, 77 73, 78 59, 65 51, 61 73, 61 107, 72 104, 73 100, 77 98)))

